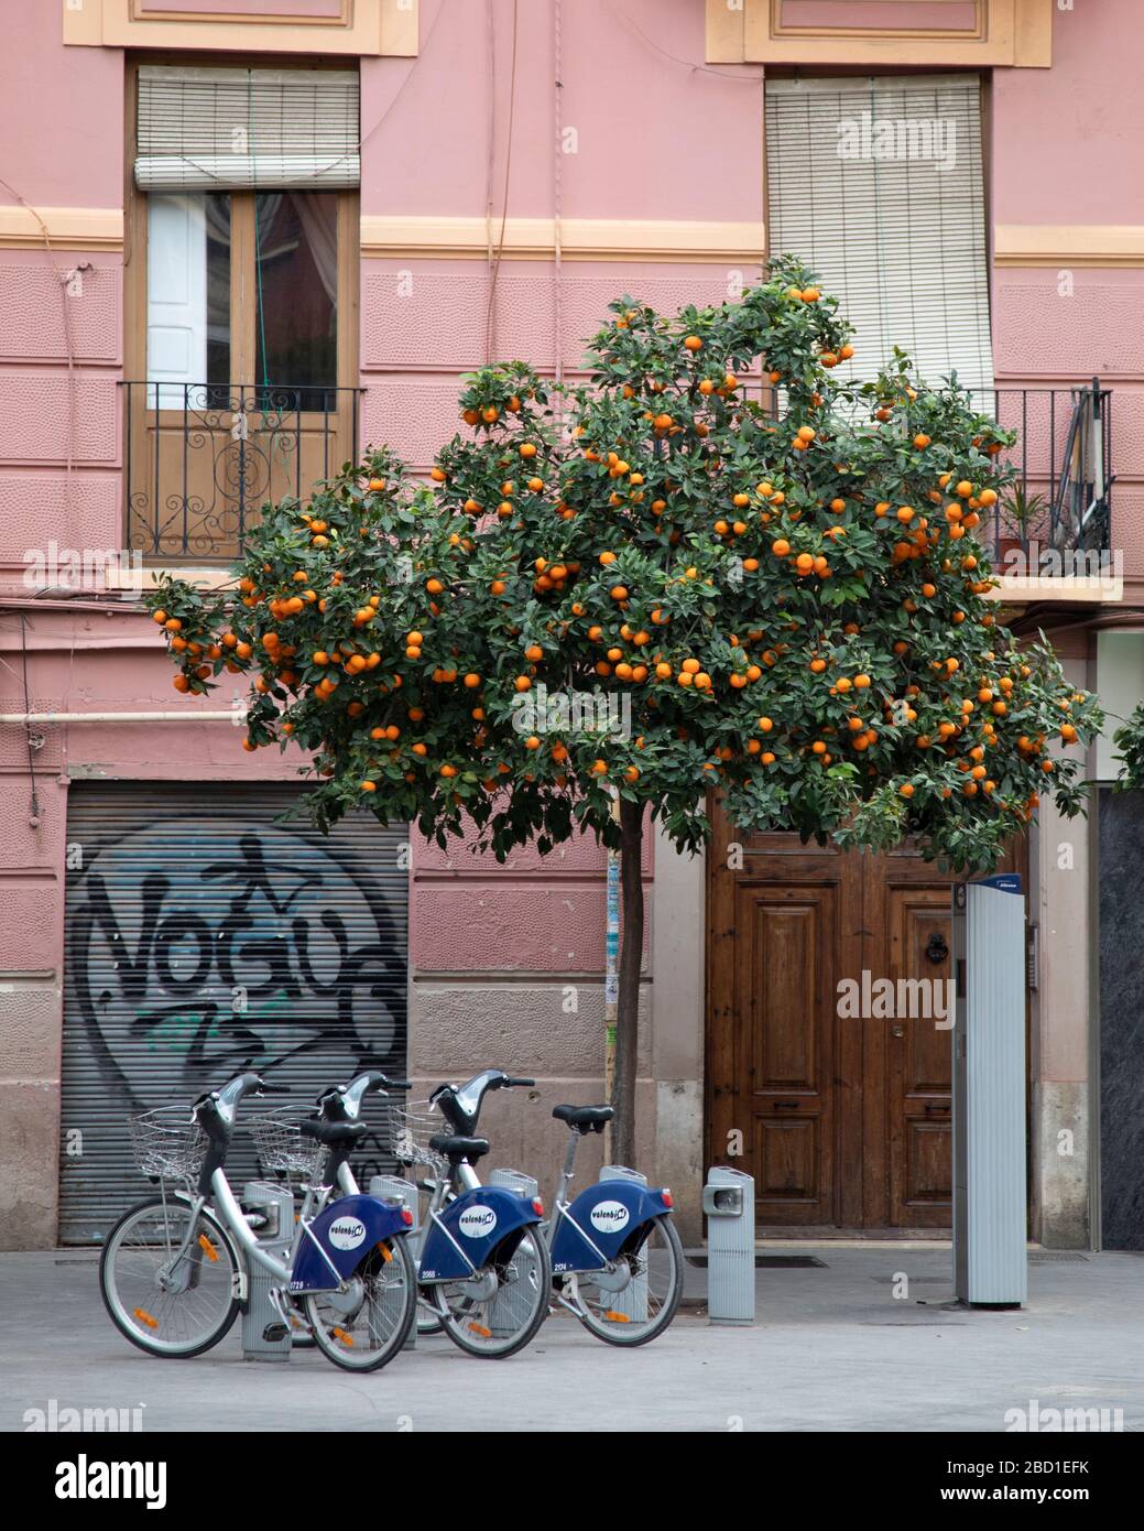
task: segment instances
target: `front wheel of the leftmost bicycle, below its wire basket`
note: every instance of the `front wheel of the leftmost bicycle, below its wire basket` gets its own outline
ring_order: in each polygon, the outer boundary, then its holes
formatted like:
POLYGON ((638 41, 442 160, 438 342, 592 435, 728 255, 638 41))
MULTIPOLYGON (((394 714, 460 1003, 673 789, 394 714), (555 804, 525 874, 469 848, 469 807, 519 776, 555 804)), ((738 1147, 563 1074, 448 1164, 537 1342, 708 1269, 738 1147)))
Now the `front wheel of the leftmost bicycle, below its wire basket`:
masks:
POLYGON ((202 1355, 239 1315, 239 1254, 213 1213, 178 1197, 124 1213, 100 1255, 100 1292, 112 1323, 152 1355, 202 1355))

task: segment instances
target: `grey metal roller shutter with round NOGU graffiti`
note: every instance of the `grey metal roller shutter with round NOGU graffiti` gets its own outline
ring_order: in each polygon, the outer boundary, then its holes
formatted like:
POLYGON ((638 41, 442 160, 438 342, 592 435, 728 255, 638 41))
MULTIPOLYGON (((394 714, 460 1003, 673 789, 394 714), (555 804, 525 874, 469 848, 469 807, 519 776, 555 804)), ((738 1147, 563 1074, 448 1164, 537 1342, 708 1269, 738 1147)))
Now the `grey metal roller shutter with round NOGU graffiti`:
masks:
MULTIPOLYGON (((61 1243, 98 1242, 149 1193, 132 1112, 190 1102, 251 1067, 299 1102, 363 1067, 403 1073, 404 828, 355 814, 326 837, 305 818, 280 822, 299 796, 277 784, 70 788, 61 1243)), ((369 1168, 380 1154, 366 1144, 369 1168)), ((253 1173, 239 1131, 228 1174, 240 1185, 253 1173)))

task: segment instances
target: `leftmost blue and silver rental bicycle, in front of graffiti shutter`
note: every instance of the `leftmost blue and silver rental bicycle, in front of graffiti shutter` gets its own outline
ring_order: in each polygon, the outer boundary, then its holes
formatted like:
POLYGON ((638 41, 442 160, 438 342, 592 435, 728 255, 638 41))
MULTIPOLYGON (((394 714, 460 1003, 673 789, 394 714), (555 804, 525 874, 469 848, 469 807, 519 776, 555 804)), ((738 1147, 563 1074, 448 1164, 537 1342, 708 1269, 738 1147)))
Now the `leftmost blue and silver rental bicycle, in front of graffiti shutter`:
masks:
POLYGON ((136 1162, 159 1180, 159 1194, 127 1211, 107 1237, 100 1257, 104 1306, 139 1349, 202 1355, 248 1300, 254 1262, 276 1278, 271 1301, 280 1334, 300 1324, 337 1366, 372 1372, 392 1361, 413 1323, 417 1272, 406 1248, 412 1214, 374 1196, 331 1200, 337 1167, 366 1127, 303 1119, 297 1133, 325 1150, 319 1157, 326 1168, 303 1190, 289 1257, 271 1254, 225 1173, 239 1101, 265 1093, 283 1092, 244 1073, 190 1108, 165 1107, 132 1121, 136 1162))

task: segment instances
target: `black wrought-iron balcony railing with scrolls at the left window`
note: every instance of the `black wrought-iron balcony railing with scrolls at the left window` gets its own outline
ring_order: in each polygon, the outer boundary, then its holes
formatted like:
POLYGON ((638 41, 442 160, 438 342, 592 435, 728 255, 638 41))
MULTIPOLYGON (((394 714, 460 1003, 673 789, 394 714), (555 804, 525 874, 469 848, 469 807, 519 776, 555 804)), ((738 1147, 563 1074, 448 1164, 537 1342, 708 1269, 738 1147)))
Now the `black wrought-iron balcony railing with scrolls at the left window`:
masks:
POLYGON ((124 383, 127 547, 239 556, 266 502, 305 498, 357 456, 361 389, 124 383))

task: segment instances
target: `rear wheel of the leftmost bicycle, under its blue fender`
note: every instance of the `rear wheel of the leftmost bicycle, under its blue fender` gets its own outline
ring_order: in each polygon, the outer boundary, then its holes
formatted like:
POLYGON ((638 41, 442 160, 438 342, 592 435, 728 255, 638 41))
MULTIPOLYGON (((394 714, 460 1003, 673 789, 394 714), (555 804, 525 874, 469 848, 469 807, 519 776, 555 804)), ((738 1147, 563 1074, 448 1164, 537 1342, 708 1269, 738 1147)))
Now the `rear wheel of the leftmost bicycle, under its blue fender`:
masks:
POLYGON ((337 1292, 311 1292, 314 1343, 334 1366, 375 1372, 409 1338, 417 1311, 417 1266, 406 1240, 377 1245, 337 1292))

